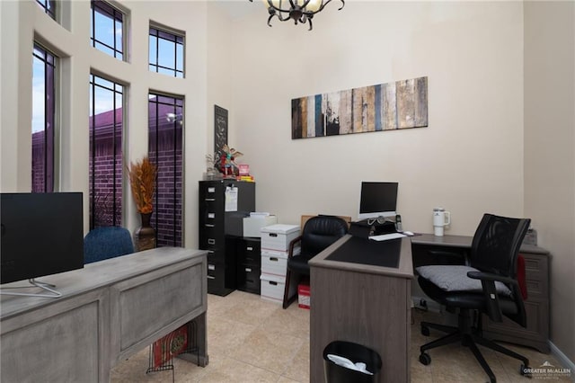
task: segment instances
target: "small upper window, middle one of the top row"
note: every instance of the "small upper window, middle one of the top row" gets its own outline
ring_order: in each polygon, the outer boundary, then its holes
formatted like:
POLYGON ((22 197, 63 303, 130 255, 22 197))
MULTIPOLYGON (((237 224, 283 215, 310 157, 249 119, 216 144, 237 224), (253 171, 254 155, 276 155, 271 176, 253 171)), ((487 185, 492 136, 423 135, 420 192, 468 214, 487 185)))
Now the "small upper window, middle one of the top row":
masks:
POLYGON ((124 13, 102 0, 92 0, 90 42, 114 58, 124 59, 124 13))

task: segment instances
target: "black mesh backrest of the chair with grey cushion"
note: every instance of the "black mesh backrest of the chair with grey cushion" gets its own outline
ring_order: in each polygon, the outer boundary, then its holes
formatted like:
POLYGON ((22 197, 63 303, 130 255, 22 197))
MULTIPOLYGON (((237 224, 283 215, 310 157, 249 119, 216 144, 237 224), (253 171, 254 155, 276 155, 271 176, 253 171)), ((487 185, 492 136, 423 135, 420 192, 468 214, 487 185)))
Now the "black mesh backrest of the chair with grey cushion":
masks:
MULTIPOLYGON (((517 256, 531 219, 484 214, 473 236, 471 266, 517 281, 517 256)), ((523 297, 518 286, 508 286, 516 301, 517 313, 504 313, 519 325, 526 321, 523 297)))

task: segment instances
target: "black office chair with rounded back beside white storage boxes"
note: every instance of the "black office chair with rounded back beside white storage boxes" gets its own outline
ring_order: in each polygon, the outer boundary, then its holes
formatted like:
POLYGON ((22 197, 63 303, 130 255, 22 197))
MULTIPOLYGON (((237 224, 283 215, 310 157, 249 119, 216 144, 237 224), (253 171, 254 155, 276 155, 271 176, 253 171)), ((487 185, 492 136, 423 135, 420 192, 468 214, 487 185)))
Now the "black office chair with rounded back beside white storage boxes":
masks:
POLYGON ((307 262, 316 254, 319 254, 327 246, 348 233, 348 224, 345 220, 335 216, 316 216, 309 218, 304 225, 301 236, 294 238, 289 243, 288 271, 286 272, 286 287, 284 289, 283 307, 288 306, 297 298, 288 297, 289 286, 294 276, 299 277, 309 275, 309 264, 307 262), (296 245, 300 244, 300 254, 294 254, 296 245))

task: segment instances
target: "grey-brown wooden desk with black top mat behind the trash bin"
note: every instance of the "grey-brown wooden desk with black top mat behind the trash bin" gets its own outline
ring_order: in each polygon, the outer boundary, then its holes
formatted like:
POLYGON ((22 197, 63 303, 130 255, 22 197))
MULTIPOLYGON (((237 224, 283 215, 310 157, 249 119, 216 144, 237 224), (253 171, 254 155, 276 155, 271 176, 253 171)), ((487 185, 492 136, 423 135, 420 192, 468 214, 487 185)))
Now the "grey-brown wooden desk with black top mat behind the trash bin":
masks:
POLYGON ((325 346, 332 341, 347 341, 379 353, 383 366, 377 382, 409 382, 413 278, 410 238, 394 240, 401 241, 397 267, 328 259, 350 237, 344 236, 309 262, 310 381, 325 381, 325 346))

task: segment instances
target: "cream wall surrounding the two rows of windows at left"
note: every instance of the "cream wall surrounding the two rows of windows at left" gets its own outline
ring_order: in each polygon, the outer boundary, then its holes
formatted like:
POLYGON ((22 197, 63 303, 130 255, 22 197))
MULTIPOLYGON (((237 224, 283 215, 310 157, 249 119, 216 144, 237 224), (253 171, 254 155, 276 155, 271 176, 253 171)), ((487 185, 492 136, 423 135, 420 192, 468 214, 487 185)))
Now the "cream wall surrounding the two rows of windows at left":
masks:
MULTIPOLYGON (((182 95, 184 120, 185 196, 184 243, 198 245, 198 187, 205 169, 207 141, 207 4, 205 2, 115 3, 128 17, 129 62, 90 47, 90 2, 58 3, 66 7, 63 28, 40 10, 35 1, 1 2, 2 15, 2 191, 31 190, 31 52, 33 36, 43 41, 60 59, 62 100, 58 144, 61 165, 57 191, 84 191, 84 230, 88 229, 88 113, 90 70, 111 76, 126 85, 127 124, 124 157, 129 161, 147 153, 148 92, 182 95), (185 31, 186 78, 176 79, 148 71, 150 21, 185 31), (9 113, 7 111, 14 111, 9 113)), ((128 185, 124 195, 130 196, 128 185)), ((124 226, 133 230, 140 222, 131 198, 125 199, 124 226)))

